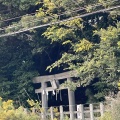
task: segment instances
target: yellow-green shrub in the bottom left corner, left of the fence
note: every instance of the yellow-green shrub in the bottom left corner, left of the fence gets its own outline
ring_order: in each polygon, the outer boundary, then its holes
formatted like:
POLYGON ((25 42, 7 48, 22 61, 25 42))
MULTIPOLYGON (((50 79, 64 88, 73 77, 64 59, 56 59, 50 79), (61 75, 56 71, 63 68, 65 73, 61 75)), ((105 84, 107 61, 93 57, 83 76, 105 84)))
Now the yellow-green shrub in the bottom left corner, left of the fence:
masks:
POLYGON ((25 113, 22 106, 15 109, 12 100, 2 101, 0 97, 0 120, 40 120, 40 117, 32 112, 25 113))

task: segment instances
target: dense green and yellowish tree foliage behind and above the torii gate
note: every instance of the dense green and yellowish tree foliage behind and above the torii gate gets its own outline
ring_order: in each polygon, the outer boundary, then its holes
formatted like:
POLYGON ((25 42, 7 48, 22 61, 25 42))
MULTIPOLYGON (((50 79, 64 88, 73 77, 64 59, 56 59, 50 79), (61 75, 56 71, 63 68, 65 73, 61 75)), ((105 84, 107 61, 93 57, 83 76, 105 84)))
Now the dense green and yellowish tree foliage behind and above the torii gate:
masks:
POLYGON ((7 35, 0 37, 0 96, 22 101, 34 96, 34 76, 64 70, 75 70, 81 85, 97 99, 115 91, 120 79, 120 9, 95 11, 118 5, 119 0, 0 0, 0 36, 7 35))

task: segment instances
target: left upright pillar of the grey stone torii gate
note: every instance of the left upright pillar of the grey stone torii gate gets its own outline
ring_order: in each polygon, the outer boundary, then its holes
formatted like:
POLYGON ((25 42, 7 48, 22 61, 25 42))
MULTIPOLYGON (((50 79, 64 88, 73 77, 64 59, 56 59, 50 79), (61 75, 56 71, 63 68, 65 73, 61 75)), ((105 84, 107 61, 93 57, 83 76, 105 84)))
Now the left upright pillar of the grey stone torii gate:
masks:
POLYGON ((46 82, 42 82, 41 83, 41 87, 42 87, 42 90, 43 90, 41 92, 42 108, 43 108, 42 118, 45 119, 46 118, 47 108, 48 108, 48 100, 47 100, 47 93, 46 93, 47 83, 46 82))

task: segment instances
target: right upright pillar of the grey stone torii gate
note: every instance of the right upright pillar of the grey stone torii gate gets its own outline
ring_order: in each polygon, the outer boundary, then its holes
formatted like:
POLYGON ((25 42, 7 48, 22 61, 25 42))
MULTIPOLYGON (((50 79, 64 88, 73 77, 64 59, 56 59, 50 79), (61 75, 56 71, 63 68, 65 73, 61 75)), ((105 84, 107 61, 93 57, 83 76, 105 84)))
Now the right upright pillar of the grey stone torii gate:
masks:
MULTIPOLYGON (((72 82, 72 78, 67 78, 67 81, 72 82)), ((70 120, 74 120, 75 118, 75 94, 70 88, 68 88, 68 100, 69 100, 69 111, 70 111, 70 120)))

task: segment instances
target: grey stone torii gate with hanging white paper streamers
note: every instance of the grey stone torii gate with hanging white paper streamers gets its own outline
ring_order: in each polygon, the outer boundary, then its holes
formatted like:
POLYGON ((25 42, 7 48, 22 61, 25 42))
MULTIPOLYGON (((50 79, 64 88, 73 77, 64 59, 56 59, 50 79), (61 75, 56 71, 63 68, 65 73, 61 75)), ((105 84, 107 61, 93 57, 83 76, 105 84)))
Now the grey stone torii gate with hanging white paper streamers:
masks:
MULTIPOLYGON (((46 76, 39 76, 33 79, 33 83, 41 83, 41 88, 35 89, 35 93, 41 93, 42 97, 42 108, 44 111, 47 111, 48 108, 48 99, 47 94, 50 91, 59 89, 68 89, 68 100, 69 100, 69 111, 70 111, 70 119, 74 119, 74 110, 75 110, 75 96, 74 91, 72 91, 68 87, 60 86, 60 81, 65 79, 67 81, 72 81, 72 77, 76 77, 75 71, 69 71, 54 75, 46 75, 46 76), (52 87, 47 86, 47 82, 51 83, 52 87)), ((45 113, 43 114, 43 118, 45 118, 45 113)))

